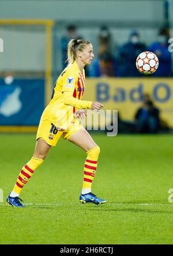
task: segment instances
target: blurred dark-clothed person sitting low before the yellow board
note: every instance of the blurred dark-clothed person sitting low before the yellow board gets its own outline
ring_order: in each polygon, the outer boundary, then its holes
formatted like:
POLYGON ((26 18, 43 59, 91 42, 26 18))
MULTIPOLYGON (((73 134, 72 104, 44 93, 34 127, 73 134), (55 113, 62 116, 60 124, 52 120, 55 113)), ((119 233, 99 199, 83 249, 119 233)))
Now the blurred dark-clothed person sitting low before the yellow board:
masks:
POLYGON ((147 97, 147 95, 144 97, 142 106, 135 115, 136 131, 139 133, 156 133, 160 128, 160 111, 147 97))

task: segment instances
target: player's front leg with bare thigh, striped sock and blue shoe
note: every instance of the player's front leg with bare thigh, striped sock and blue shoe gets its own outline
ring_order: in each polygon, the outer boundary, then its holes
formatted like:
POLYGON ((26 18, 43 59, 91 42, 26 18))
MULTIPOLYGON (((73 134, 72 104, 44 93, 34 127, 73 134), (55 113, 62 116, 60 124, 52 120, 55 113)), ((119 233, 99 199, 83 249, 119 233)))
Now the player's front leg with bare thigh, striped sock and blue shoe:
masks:
POLYGON ((96 205, 101 203, 106 203, 106 200, 97 198, 96 195, 92 194, 91 187, 92 181, 95 177, 96 169, 97 169, 97 159, 100 154, 100 148, 93 141, 91 135, 85 130, 80 129, 79 131, 74 132, 68 140, 77 146, 81 147, 86 154, 86 160, 84 165, 84 181, 82 192, 80 195, 81 203, 92 202, 96 205))

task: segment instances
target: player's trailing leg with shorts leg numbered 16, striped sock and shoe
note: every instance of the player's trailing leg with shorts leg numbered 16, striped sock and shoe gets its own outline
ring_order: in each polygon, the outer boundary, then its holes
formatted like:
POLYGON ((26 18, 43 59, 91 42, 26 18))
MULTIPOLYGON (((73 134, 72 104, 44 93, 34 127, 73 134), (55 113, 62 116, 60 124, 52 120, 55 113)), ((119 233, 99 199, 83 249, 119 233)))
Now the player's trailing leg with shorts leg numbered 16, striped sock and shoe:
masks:
POLYGON ((19 198, 24 185, 28 183, 29 179, 31 179, 35 170, 43 164, 51 146, 55 146, 57 144, 61 135, 62 132, 57 131, 50 121, 40 121, 36 137, 37 142, 35 152, 29 162, 22 167, 13 191, 10 192, 9 196, 7 196, 6 201, 9 205, 14 207, 24 207, 20 202, 21 199, 19 198))

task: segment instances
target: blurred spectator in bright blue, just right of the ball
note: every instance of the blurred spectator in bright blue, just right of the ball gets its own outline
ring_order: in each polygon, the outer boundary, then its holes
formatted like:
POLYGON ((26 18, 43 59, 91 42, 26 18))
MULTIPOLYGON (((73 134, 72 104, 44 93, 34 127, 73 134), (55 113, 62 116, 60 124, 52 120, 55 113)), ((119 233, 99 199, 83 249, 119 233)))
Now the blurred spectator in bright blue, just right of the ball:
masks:
POLYGON ((168 32, 167 29, 160 29, 157 41, 152 43, 148 50, 152 51, 159 58, 159 67, 153 76, 171 75, 171 53, 168 51, 168 32))

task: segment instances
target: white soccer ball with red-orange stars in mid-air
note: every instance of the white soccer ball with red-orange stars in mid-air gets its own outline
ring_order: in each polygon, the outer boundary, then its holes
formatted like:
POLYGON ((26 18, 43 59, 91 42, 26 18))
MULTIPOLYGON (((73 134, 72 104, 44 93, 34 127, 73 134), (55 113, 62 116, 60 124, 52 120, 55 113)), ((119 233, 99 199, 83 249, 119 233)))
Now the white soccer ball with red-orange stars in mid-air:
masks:
POLYGON ((136 59, 136 67, 142 74, 150 75, 156 71, 159 60, 151 51, 143 51, 136 59))

